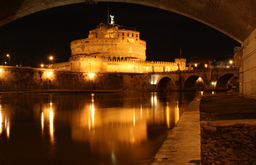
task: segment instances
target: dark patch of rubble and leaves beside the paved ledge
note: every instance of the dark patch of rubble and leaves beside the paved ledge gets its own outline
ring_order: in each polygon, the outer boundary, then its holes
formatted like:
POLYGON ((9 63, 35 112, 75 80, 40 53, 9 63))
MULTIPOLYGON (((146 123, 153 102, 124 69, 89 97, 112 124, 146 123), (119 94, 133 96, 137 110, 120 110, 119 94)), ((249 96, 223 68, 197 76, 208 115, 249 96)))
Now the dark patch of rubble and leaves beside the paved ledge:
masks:
POLYGON ((202 165, 256 165, 256 126, 201 127, 202 165))

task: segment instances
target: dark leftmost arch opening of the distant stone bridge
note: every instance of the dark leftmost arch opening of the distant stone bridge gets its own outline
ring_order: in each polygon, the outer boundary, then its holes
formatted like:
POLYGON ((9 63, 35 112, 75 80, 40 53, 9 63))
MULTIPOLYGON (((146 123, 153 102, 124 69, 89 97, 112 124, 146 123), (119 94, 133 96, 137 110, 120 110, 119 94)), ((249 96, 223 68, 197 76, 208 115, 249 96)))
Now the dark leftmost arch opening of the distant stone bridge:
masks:
POLYGON ((169 75, 158 78, 156 90, 175 90, 175 81, 169 75))

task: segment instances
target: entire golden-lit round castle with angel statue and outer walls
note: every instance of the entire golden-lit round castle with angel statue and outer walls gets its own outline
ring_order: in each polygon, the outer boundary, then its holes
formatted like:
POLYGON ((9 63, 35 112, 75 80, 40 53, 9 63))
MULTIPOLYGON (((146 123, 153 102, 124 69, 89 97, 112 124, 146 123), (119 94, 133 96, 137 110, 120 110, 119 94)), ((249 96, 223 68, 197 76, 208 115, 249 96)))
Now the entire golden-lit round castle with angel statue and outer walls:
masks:
POLYGON ((168 72, 192 70, 186 59, 175 62, 146 61, 146 42, 140 40, 136 28, 110 23, 100 23, 89 31, 89 37, 70 43, 69 62, 55 63, 49 69, 87 72, 168 72))

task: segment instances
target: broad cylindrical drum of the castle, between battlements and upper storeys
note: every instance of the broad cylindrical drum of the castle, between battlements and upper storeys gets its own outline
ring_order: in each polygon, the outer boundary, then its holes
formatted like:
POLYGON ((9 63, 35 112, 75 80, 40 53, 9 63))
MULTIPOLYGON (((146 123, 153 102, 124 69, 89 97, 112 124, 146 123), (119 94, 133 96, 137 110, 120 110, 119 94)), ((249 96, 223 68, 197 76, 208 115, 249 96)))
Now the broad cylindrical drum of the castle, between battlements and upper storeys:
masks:
POLYGON ((107 59, 125 59, 133 57, 135 60, 146 60, 146 42, 129 43, 117 38, 87 38, 70 43, 71 58, 85 56, 101 56, 107 59))

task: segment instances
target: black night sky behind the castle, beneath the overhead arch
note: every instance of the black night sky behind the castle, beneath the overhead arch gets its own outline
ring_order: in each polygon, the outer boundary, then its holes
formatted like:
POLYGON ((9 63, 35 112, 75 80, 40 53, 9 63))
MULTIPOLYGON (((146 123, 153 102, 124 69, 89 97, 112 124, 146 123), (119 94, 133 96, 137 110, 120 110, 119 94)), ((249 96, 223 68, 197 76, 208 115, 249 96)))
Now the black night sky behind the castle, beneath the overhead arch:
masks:
POLYGON ((0 43, 14 51, 11 65, 27 58, 23 66, 37 57, 39 63, 67 62, 70 42, 88 38, 89 30, 99 23, 135 27, 140 39, 146 41, 147 61, 170 61, 191 56, 232 56, 241 44, 223 33, 188 17, 144 5, 98 2, 64 5, 27 15, 0 27, 0 43))

